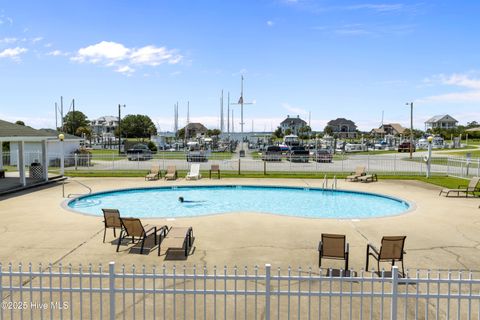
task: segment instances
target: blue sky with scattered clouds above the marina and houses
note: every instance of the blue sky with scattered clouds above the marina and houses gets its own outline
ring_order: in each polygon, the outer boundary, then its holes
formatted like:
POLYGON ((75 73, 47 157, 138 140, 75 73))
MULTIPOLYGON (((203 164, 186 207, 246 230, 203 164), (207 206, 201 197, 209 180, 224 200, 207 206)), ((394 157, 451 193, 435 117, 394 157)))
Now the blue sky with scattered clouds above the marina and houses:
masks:
MULTIPOLYGON (((240 95, 245 131, 300 115, 314 130, 480 121, 479 1, 1 1, 0 118, 54 127, 54 103, 89 119, 147 114, 160 130, 219 127, 240 95), (226 114, 226 111, 225 111, 226 114)), ((240 110, 235 112, 238 131, 240 110)))

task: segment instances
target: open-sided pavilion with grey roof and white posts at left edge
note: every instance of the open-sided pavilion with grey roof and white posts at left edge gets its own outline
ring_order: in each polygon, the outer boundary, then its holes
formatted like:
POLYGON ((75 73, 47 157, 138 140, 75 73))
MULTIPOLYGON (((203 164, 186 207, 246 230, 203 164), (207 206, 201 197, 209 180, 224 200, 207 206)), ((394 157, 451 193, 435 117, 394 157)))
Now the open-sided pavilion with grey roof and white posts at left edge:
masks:
MULTIPOLYGON (((40 130, 0 120, 0 144, 3 146, 3 142, 18 143, 18 172, 22 186, 25 187, 27 185, 25 175, 25 143, 41 143, 42 152, 39 161, 42 165, 42 180, 48 181, 47 140, 51 139, 52 136, 48 136, 40 130)), ((3 171, 3 167, 3 147, 0 147, 0 170, 3 171)))

